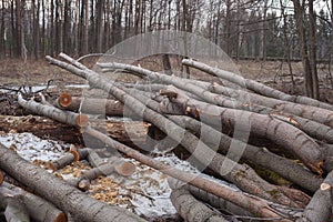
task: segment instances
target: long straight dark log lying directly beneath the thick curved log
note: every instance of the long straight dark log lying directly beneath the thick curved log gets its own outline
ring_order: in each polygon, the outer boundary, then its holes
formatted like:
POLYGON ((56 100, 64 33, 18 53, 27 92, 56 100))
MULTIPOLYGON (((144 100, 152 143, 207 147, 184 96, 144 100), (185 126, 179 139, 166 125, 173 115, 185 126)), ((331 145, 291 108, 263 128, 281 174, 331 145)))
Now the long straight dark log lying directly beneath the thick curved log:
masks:
MULTIPOLYGON (((127 92, 131 93, 130 91, 127 92)), ((150 98, 147 98, 141 93, 135 93, 132 95, 141 102, 145 102, 149 108, 155 111, 161 110, 161 104, 159 102, 151 100, 150 98)), ((167 109, 168 108, 170 107, 167 107, 167 109)), ((170 110, 172 113, 168 115, 170 120, 183 127, 184 129, 194 132, 195 135, 200 137, 200 139, 206 144, 212 143, 211 145, 215 147, 216 142, 214 141, 218 141, 219 151, 223 154, 226 154, 226 157, 230 157, 231 159, 233 158, 233 153, 243 152, 241 158, 246 162, 251 162, 252 164, 270 169, 284 176, 285 179, 312 192, 315 192, 320 186, 320 183, 322 182, 322 179, 319 179, 309 170, 305 170, 303 167, 294 163, 292 160, 279 157, 264 148, 258 148, 232 139, 226 134, 223 134, 220 131, 211 128, 210 125, 206 125, 203 122, 200 122, 191 117, 176 115, 180 114, 180 110, 174 111, 174 109, 172 108, 170 110)), ((184 111, 182 110, 181 114, 183 114, 183 112, 184 111)), ((238 159, 234 161, 238 161, 238 159)))

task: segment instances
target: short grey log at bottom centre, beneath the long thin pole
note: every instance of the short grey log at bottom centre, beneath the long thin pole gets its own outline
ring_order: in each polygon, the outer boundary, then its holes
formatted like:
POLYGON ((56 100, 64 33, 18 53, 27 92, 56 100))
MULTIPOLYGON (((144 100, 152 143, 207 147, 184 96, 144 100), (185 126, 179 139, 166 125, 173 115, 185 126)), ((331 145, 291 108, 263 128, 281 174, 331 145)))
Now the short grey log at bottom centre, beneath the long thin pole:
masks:
POLYGON ((173 190, 171 192, 170 199, 178 213, 188 222, 226 222, 226 220, 222 216, 221 213, 218 213, 216 210, 212 210, 204 203, 198 201, 184 188, 173 190))

